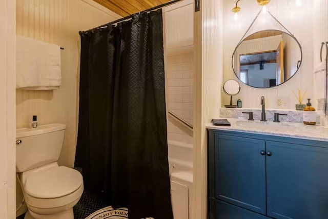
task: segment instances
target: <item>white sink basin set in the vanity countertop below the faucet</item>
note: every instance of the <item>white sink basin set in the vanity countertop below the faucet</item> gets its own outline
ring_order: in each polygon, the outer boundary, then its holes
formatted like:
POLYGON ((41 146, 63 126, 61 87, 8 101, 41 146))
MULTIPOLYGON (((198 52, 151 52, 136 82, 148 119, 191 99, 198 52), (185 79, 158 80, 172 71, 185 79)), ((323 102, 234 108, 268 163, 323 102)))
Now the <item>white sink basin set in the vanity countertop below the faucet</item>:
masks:
POLYGON ((295 131, 296 127, 288 123, 259 122, 259 121, 237 121, 237 126, 245 128, 254 128, 267 131, 295 131))

